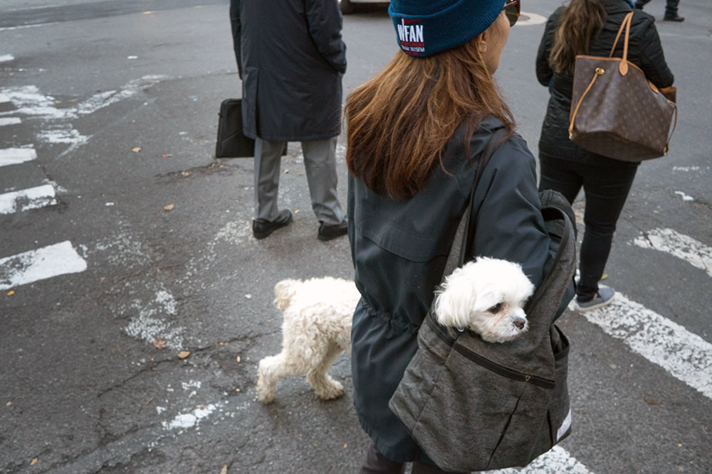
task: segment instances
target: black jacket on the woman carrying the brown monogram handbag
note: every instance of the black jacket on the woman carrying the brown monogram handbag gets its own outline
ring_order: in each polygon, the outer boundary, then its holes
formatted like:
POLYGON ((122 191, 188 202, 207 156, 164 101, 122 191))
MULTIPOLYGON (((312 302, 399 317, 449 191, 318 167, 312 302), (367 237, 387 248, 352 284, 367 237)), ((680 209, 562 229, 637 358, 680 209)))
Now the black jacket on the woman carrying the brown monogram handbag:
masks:
MULTIPOLYGON (((602 31, 593 38, 589 55, 608 56, 620 28, 623 18, 632 9, 625 0, 601 0, 607 13, 607 20, 602 31)), ((565 7, 559 7, 549 17, 544 29, 544 35, 539 45, 536 57, 536 75, 541 85, 550 86, 551 97, 541 127, 539 139, 540 156, 560 158, 581 163, 606 166, 622 165, 622 161, 613 160, 586 151, 576 146, 569 139, 569 112, 571 109, 571 93, 573 75, 553 72, 549 65, 549 55, 554 43, 554 35, 561 23, 565 7)), ((655 28, 654 18, 642 10, 635 10, 630 26, 628 45, 628 60, 645 72, 646 77, 657 87, 672 85, 674 77, 670 72, 660 38, 655 28)), ((614 57, 623 56, 622 36, 614 51, 614 57)), ((628 163, 637 166, 637 163, 628 163)))

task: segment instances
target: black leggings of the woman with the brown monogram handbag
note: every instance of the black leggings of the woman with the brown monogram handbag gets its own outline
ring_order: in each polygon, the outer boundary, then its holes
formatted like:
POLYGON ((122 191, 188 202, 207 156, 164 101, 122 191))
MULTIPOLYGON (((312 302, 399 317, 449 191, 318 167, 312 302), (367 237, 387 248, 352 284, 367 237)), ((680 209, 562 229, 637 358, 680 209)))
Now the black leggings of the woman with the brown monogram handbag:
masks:
POLYGON ((585 232, 576 296, 581 302, 590 301, 598 291, 598 281, 611 252, 616 222, 638 167, 624 162, 619 166, 592 166, 543 156, 539 157, 539 162, 539 190, 557 190, 573 203, 583 187, 586 198, 585 232))

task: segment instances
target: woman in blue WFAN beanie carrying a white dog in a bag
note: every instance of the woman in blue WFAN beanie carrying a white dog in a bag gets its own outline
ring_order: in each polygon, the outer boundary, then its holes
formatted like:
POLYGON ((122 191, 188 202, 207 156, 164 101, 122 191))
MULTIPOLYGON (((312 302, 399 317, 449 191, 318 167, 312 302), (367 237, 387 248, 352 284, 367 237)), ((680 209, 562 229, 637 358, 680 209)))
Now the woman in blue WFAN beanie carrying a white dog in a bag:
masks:
POLYGON ((348 233, 362 295, 354 404, 372 438, 362 473, 400 473, 409 461, 414 473, 436 473, 388 401, 417 349, 478 158, 498 129, 506 139, 476 188, 472 257, 518 262, 539 284, 550 239, 535 158, 492 77, 518 0, 393 0, 389 14, 401 50, 345 109, 348 233))

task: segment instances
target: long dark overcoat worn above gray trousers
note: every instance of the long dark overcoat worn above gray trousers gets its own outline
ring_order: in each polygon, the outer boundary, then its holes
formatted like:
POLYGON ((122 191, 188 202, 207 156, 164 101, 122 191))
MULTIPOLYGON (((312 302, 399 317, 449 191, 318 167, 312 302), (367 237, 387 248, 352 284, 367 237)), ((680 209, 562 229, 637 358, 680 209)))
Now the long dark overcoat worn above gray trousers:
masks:
POLYGON ((346 45, 334 0, 231 0, 246 136, 315 141, 337 136, 346 45))

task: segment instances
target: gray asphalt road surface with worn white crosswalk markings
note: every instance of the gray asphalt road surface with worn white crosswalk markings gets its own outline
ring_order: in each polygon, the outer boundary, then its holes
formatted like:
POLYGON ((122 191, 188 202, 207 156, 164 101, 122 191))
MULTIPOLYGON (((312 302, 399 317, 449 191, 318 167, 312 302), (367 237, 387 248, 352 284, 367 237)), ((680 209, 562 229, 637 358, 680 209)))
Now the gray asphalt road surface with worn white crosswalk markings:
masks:
MULTIPOLYGON (((534 55, 558 4, 525 3, 496 74, 533 153, 548 99, 534 55)), ((573 434, 525 473, 712 473, 712 6, 682 1, 684 23, 661 21, 662 0, 646 11, 677 130, 619 220, 617 301, 560 319, 573 434)), ((343 35, 350 92, 397 46, 382 7, 343 35)), ((251 237, 253 164, 214 158, 219 104, 241 90, 231 48, 225 0, 1 2, 0 471, 360 465, 347 356, 331 370, 342 399, 293 377, 256 400, 256 364, 281 343, 276 281, 353 270, 346 238, 316 239, 298 144, 281 176, 293 224, 251 237)))

